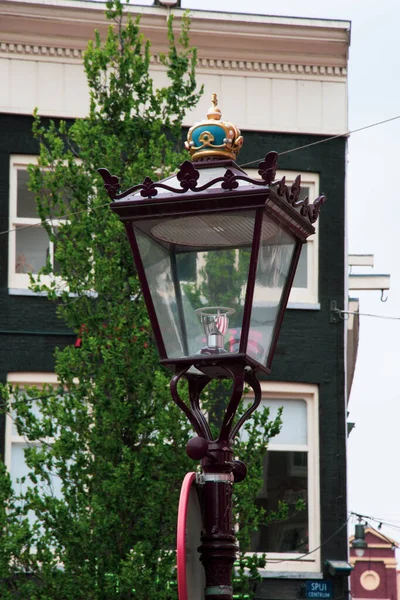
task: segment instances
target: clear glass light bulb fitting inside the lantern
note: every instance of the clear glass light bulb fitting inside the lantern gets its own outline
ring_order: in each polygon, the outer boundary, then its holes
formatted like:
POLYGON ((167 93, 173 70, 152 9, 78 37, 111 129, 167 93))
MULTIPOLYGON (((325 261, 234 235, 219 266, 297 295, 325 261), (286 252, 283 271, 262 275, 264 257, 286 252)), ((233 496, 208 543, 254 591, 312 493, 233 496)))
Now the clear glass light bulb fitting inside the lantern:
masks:
POLYGON ((195 313, 199 316, 207 337, 207 346, 202 354, 224 354, 224 336, 229 327, 229 316, 236 311, 225 306, 207 306, 198 308, 195 313))

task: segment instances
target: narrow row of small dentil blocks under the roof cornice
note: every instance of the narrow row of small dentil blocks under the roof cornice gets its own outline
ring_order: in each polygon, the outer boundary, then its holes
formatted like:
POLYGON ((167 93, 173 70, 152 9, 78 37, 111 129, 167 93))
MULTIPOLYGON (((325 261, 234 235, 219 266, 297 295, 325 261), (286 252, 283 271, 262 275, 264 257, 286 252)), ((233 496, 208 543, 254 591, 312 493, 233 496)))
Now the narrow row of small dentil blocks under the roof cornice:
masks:
MULTIPOLYGON (((63 61, 81 62, 83 50, 80 48, 64 48, 61 46, 43 46, 38 44, 18 44, 14 42, 0 43, 1 55, 19 55, 27 59, 55 59, 63 61)), ((153 64, 161 65, 158 56, 152 56, 153 64)), ((206 71, 239 71, 245 73, 263 73, 278 74, 278 75, 300 75, 308 77, 346 77, 346 67, 333 67, 330 65, 304 65, 304 64, 288 64, 281 62, 260 62, 260 61, 244 61, 244 60, 229 60, 229 59, 214 59, 203 58, 200 56, 198 60, 198 70, 206 71)))

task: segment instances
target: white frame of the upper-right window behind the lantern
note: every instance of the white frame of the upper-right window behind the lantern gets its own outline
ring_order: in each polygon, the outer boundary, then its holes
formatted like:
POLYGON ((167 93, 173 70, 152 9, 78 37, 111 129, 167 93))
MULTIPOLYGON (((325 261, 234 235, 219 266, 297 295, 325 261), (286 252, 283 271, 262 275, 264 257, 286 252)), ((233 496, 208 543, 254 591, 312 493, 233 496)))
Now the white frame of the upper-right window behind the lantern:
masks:
MULTIPOLYGON (((250 177, 259 178, 256 169, 247 169, 250 177)), ((308 187, 309 200, 314 202, 319 196, 319 175, 317 173, 307 173, 302 171, 281 171, 276 172, 276 179, 286 178, 286 184, 290 187, 297 175, 301 176, 301 185, 308 187)), ((315 234, 307 238, 307 287, 292 287, 289 296, 288 308, 308 308, 319 309, 318 297, 318 221, 314 223, 315 234)))

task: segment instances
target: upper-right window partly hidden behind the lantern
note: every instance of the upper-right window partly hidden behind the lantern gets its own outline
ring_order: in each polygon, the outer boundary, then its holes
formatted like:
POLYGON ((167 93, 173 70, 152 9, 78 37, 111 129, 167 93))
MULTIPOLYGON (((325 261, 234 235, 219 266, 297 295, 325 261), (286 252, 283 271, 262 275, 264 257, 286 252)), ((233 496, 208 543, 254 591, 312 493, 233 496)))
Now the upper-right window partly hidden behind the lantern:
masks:
MULTIPOLYGON (((259 177, 255 169, 248 169, 247 172, 251 177, 259 177)), ((299 174, 301 175, 300 200, 308 196, 310 202, 314 202, 320 193, 319 176, 316 173, 277 171, 276 179, 279 180, 285 176, 286 184, 290 186, 299 174)), ((299 305, 318 306, 318 221, 314 227, 316 232, 307 239, 300 255, 288 308, 297 308, 299 305)))

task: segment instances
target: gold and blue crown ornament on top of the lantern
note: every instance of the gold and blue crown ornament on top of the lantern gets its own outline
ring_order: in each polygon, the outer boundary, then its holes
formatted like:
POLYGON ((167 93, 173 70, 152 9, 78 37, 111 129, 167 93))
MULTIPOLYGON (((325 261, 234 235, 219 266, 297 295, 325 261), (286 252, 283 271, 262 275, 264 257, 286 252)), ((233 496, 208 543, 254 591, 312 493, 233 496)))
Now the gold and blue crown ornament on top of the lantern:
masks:
POLYGON ((195 123, 189 129, 186 150, 194 161, 223 158, 236 160, 242 145, 240 129, 229 121, 221 121, 217 94, 212 94, 207 119, 195 123))

